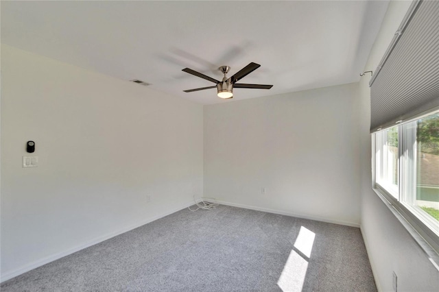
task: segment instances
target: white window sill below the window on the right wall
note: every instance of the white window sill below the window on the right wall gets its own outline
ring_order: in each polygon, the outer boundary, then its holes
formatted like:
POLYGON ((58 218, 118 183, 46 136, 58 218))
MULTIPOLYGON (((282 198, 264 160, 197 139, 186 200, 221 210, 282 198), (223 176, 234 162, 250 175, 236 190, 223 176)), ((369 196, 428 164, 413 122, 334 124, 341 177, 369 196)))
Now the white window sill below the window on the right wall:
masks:
POLYGON ((398 219, 399 222, 403 225, 403 227, 409 232, 409 234, 413 237, 414 241, 419 245, 419 247, 425 252, 431 264, 439 271, 439 255, 434 250, 431 245, 419 234, 419 232, 401 215, 401 213, 396 210, 391 202, 379 191, 378 188, 372 188, 372 190, 378 195, 378 197, 383 201, 385 206, 387 206, 390 212, 398 219))

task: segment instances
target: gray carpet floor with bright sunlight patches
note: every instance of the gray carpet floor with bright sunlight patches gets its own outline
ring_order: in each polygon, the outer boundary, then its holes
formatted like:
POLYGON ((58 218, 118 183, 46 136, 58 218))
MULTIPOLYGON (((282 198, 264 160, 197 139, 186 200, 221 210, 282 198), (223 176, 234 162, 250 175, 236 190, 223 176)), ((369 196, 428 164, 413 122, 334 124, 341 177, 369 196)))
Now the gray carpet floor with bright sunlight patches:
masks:
POLYGON ((1 291, 377 287, 358 228, 219 206, 180 210, 3 282, 1 291))

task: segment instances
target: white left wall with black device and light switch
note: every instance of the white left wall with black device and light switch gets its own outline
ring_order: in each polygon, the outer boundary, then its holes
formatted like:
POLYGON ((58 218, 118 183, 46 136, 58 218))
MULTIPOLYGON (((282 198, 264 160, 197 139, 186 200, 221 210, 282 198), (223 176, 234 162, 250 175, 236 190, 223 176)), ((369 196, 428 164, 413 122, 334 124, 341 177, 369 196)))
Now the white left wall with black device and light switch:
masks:
POLYGON ((1 65, 2 280, 202 194, 201 105, 6 45, 1 65))

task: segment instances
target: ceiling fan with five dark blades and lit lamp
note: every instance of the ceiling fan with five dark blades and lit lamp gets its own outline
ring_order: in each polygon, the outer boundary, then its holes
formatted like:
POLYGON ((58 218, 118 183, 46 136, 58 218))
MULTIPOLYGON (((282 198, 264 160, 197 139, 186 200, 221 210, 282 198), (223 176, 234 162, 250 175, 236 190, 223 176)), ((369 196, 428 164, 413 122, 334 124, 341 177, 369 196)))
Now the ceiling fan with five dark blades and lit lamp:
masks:
POLYGON ((202 88, 195 88, 195 89, 189 89, 189 90, 183 90, 185 93, 191 93, 192 91, 198 91, 198 90, 204 90, 204 89, 210 89, 210 88, 217 88, 218 97, 221 97, 223 99, 229 99, 233 97, 233 88, 257 88, 257 89, 270 89, 273 86, 272 85, 264 85, 264 84, 244 84, 244 83, 236 83, 237 81, 241 80, 243 77, 246 77, 248 74, 252 73, 254 70, 258 69, 261 65, 251 62, 247 66, 245 66, 243 69, 235 73, 235 75, 227 78, 226 74, 230 70, 229 66, 220 66, 218 68, 219 71, 221 71, 224 74, 224 77, 222 78, 222 81, 218 81, 213 79, 212 77, 206 76, 200 72, 194 71, 189 68, 185 68, 182 71, 185 71, 186 73, 201 77, 205 80, 209 80, 210 82, 215 83, 215 86, 208 86, 208 87, 202 87, 202 88))

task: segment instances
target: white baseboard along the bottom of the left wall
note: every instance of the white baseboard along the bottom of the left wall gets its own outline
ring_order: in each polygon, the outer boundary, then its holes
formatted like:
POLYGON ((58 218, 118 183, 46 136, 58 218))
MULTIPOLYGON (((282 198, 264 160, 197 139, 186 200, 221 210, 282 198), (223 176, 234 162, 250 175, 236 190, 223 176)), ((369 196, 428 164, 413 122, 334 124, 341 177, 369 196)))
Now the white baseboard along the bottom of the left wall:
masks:
POLYGON ((23 265, 22 267, 19 267, 18 269, 14 269, 12 271, 8 271, 8 272, 6 272, 4 274, 1 274, 0 282, 5 282, 6 280, 10 280, 10 279, 12 279, 12 278, 14 278, 16 276, 21 275, 22 273, 25 273, 25 272, 30 271, 32 269, 35 269, 37 267, 41 267, 42 265, 45 265, 45 264, 50 263, 50 262, 53 262, 54 260, 58 260, 59 258, 63 258, 64 256, 68 256, 69 254, 73 254, 74 252, 78 252, 80 250, 84 250, 84 248, 86 248, 86 247, 90 247, 91 245, 95 245, 97 243, 101 243, 102 241, 106 241, 107 239, 115 237, 115 236, 117 236, 119 234, 128 232, 130 230, 133 230, 135 228, 143 226, 143 225, 145 225, 147 223, 150 223, 152 221, 156 221, 157 219, 161 219, 161 218, 163 218, 163 217, 165 217, 167 215, 171 215, 172 213, 175 213, 175 212, 177 212, 179 210, 182 210, 184 208, 192 206, 193 204, 194 204, 194 202, 191 201, 191 202, 189 202, 187 204, 184 204, 184 205, 182 205, 182 206, 180 206, 178 208, 173 208, 172 210, 169 210, 169 211, 167 211, 167 212, 165 212, 165 213, 163 213, 161 215, 154 216, 152 218, 148 218, 148 219, 139 221, 139 222, 134 223, 134 224, 132 224, 130 226, 127 226, 126 228, 123 228, 121 230, 117 230, 116 232, 110 232, 110 233, 105 234, 103 236, 99 236, 99 237, 97 237, 97 238, 95 238, 95 239, 93 239, 91 241, 87 241, 86 243, 83 243, 81 245, 73 247, 73 248, 71 248, 69 250, 66 250, 64 252, 58 252, 57 254, 52 254, 51 256, 46 256, 45 258, 41 258, 40 260, 35 260, 32 263, 28 263, 26 265, 23 265))

